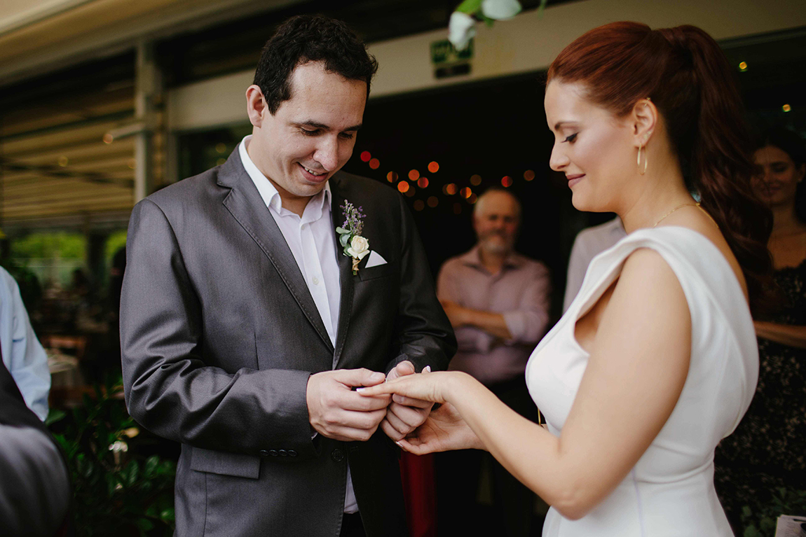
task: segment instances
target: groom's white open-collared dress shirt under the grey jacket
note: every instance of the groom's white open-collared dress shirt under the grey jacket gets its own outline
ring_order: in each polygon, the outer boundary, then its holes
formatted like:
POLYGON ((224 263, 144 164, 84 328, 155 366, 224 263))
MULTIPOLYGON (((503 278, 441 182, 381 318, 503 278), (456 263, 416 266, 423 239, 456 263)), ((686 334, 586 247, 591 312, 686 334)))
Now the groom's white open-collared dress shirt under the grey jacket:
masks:
MULTIPOLYGON (((327 335, 333 346, 336 345, 336 328, 339 327, 339 305, 342 288, 339 281, 339 262, 336 261, 335 231, 330 217, 330 183, 322 192, 312 196, 300 217, 285 209, 280 193, 263 173, 257 169, 247 153, 251 135, 243 138, 238 151, 243 167, 260 192, 268 212, 283 233, 294 260, 297 261, 302 278, 308 286, 314 304, 325 324, 327 335)), ((334 357, 335 360, 335 357, 334 357)), ((333 364, 335 366, 335 363, 333 364)), ((355 513, 358 503, 352 486, 350 466, 347 466, 347 495, 344 498, 344 512, 355 513)))

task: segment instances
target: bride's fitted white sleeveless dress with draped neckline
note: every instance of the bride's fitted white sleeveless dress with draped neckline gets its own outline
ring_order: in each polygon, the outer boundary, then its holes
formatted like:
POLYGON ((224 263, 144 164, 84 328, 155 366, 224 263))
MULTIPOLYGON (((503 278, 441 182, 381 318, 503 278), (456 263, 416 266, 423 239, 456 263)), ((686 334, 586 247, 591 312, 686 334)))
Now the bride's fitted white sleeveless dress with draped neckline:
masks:
POLYGON ((534 349, 526 383, 559 436, 588 365, 574 337, 576 320, 638 248, 659 252, 683 287, 692 316, 688 377, 667 423, 625 480, 579 520, 551 509, 543 537, 733 537, 713 486, 713 450, 750 406, 758 347, 736 275, 703 235, 672 226, 641 229, 593 258, 579 295, 534 349))

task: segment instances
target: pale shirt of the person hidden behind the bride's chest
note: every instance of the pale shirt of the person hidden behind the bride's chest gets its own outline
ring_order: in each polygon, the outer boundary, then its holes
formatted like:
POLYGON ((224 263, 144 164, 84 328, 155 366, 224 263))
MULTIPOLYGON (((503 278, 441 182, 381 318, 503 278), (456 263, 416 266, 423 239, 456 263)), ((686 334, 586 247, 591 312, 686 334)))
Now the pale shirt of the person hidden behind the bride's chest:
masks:
POLYGON ((588 272, 588 265, 600 252, 627 236, 621 218, 615 217, 604 224, 594 225, 583 229, 576 235, 574 246, 571 246, 571 256, 568 258, 568 278, 565 284, 565 299, 563 299, 563 313, 566 312, 576 294, 582 288, 582 280, 588 272))

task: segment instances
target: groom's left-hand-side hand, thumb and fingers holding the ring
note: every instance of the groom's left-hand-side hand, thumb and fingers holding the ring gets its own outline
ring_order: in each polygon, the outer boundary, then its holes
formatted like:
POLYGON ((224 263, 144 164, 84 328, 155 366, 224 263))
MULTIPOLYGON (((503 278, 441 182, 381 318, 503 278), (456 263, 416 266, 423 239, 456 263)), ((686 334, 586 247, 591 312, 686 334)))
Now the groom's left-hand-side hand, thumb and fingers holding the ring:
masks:
POLYGON ((333 370, 308 378, 305 399, 308 419, 314 431, 334 440, 369 440, 386 415, 388 395, 362 397, 355 386, 375 386, 384 374, 366 369, 333 370))

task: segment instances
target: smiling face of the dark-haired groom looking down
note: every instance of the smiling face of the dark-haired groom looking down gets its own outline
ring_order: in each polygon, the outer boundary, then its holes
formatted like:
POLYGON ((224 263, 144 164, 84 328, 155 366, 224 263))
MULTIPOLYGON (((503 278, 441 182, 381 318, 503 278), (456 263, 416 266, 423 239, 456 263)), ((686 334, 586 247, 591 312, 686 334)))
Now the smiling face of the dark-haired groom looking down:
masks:
POLYGON ((275 114, 264 107, 248 151, 280 196, 298 199, 321 192, 350 159, 367 84, 327 72, 322 62, 298 65, 290 83, 291 98, 275 114))

